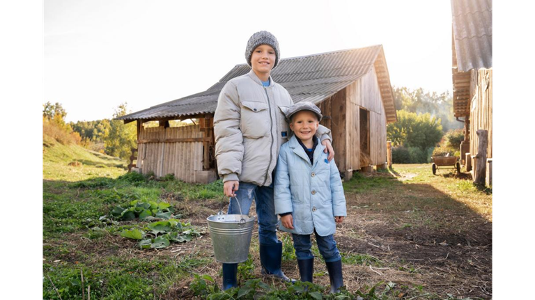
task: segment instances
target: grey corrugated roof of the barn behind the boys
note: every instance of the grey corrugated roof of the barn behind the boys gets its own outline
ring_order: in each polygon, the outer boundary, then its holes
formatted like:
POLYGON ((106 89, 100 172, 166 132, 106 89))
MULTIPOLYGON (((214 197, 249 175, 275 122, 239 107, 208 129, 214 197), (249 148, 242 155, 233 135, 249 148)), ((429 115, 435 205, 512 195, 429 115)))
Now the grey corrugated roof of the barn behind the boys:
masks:
MULTIPOLYGON (((397 116, 394 96, 382 45, 283 58, 271 76, 275 82, 288 90, 294 102, 306 100, 318 104, 370 72, 373 65, 378 74, 382 100, 387 111, 387 121, 395 122, 397 116)), ((236 65, 217 84, 202 93, 137 111, 117 120, 144 120, 214 113, 217 107, 217 97, 226 82, 247 74, 249 70, 251 67, 245 63, 236 65)))

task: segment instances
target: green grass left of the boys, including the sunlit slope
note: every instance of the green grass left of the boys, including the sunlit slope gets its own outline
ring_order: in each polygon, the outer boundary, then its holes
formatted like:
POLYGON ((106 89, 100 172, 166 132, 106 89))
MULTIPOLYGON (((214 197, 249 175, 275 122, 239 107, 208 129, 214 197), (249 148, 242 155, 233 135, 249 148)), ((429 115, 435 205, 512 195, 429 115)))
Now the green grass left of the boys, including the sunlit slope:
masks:
POLYGON ((120 248, 109 244, 109 239, 123 240, 119 233, 135 224, 99 221, 115 205, 132 200, 217 198, 222 182, 187 184, 172 175, 155 180, 150 175, 127 173, 120 159, 77 145, 50 141, 47 145, 51 146, 43 146, 42 155, 43 299, 82 299, 82 271, 84 290, 91 285, 92 299, 154 299, 155 294, 164 294, 189 278, 192 269, 212 262, 199 251, 176 260, 149 260, 88 254, 77 248, 95 242, 107 243, 106 250, 112 253, 120 248), (69 166, 72 161, 80 161, 82 166, 69 166))

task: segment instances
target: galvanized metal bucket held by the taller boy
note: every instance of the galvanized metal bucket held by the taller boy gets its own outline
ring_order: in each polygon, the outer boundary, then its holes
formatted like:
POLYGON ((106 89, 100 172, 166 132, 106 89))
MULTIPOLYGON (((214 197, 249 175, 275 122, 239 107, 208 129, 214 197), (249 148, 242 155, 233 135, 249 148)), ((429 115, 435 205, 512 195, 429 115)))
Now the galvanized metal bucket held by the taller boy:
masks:
MULTIPOLYGON (((236 203, 240 207, 238 199, 236 203)), ((215 260, 226 264, 245 262, 251 245, 254 218, 245 214, 223 214, 219 211, 217 215, 209 216, 206 220, 210 228, 215 260)))

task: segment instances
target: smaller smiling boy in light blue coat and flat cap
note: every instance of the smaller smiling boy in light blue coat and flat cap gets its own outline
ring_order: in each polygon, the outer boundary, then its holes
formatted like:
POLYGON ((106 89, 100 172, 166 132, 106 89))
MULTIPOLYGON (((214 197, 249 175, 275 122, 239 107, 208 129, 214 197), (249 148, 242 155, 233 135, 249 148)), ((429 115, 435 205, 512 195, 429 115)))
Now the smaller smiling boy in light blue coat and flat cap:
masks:
POLYGON ((341 255, 333 239, 336 223, 346 216, 346 197, 334 159, 328 161, 325 146, 314 136, 322 118, 311 102, 299 102, 286 111, 294 132, 281 146, 274 184, 275 213, 280 230, 291 232, 301 281, 312 282, 314 256, 310 235, 327 264, 331 292, 343 285, 341 255), (336 219, 336 223, 335 223, 336 219))

